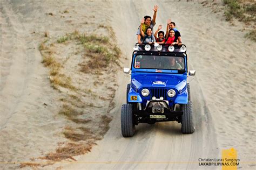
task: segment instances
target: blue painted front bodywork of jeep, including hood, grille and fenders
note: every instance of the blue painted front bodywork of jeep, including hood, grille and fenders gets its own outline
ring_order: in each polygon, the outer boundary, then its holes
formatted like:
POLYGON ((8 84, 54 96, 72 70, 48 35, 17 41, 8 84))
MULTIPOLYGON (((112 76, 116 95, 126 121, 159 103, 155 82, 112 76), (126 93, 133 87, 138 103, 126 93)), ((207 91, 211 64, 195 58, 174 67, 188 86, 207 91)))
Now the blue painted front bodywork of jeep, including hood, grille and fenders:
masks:
POLYGON ((131 88, 128 93, 128 102, 142 103, 144 106, 148 100, 151 100, 152 95, 155 97, 164 97, 164 100, 169 101, 169 106, 173 104, 187 104, 187 62, 186 55, 185 73, 178 73, 178 70, 166 69, 141 69, 134 68, 133 63, 136 53, 132 58, 131 66, 131 88), (150 95, 143 97, 141 94, 142 89, 147 88, 150 90, 150 95), (173 89, 176 91, 174 97, 169 97, 167 91, 173 89), (137 100, 131 100, 131 96, 137 96, 137 100))

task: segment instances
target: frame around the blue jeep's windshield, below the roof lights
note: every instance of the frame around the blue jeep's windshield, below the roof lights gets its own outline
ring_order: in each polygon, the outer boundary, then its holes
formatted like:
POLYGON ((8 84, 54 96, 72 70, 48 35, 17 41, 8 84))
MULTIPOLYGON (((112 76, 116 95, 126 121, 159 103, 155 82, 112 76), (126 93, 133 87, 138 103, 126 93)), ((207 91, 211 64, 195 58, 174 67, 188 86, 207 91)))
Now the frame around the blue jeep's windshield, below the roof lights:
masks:
MULTIPOLYGON (((158 58, 159 59, 159 58, 158 58)), ((168 62, 168 60, 167 60, 168 62)), ((176 61, 177 62, 177 61, 176 61)), ((164 63, 164 62, 162 62, 164 63)), ((166 65, 166 63, 165 63, 166 65)), ((186 53, 173 53, 173 52, 152 52, 152 51, 134 51, 132 56, 132 64, 131 64, 131 70, 133 72, 151 72, 151 73, 174 73, 174 74, 184 74, 187 72, 187 55, 186 53), (165 68, 163 66, 156 66, 156 67, 141 67, 140 63, 138 62, 137 58, 138 56, 147 56, 147 57, 160 57, 163 59, 167 58, 175 58, 176 60, 178 58, 183 59, 184 66, 181 66, 181 69, 171 69, 171 68, 165 68), (136 63, 137 62, 137 63, 136 63), (136 68, 137 67, 137 68, 136 68)))

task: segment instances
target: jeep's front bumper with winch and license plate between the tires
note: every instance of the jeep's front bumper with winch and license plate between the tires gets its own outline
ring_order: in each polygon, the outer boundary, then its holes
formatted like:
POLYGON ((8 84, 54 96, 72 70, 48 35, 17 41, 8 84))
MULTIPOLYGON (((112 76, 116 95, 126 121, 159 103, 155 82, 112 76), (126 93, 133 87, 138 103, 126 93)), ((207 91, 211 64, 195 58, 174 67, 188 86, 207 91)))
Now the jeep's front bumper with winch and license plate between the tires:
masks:
POLYGON ((174 121, 183 115, 182 111, 174 111, 169 107, 169 101, 154 98, 147 101, 146 107, 138 110, 139 123, 174 121))

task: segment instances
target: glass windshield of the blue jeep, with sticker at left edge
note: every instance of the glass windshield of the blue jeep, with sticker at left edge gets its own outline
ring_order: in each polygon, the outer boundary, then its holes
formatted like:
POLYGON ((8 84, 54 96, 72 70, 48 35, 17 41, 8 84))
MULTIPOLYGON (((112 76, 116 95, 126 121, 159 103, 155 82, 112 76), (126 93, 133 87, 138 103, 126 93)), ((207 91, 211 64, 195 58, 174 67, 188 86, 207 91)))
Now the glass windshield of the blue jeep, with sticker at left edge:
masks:
POLYGON ((182 56, 137 55, 133 67, 137 69, 184 70, 185 62, 182 56))

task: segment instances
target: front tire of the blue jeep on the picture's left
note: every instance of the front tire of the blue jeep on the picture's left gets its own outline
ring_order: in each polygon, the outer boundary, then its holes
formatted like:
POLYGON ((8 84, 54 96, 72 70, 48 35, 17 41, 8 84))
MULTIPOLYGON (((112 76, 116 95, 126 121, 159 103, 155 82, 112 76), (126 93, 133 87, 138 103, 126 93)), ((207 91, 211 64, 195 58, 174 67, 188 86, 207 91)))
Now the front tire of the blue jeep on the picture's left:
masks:
POLYGON ((123 104, 121 109, 121 130, 123 137, 132 137, 135 133, 132 104, 123 104))

